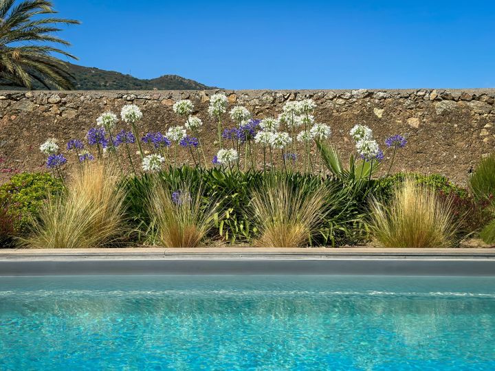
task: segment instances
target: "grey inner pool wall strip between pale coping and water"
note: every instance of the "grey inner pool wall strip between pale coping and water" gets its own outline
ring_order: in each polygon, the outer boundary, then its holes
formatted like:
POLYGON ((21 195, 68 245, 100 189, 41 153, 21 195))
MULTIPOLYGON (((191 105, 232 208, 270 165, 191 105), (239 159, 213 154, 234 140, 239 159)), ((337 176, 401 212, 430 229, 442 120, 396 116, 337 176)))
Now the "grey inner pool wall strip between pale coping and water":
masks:
POLYGON ((0 260, 0 276, 106 275, 495 276, 493 259, 162 258, 0 260))

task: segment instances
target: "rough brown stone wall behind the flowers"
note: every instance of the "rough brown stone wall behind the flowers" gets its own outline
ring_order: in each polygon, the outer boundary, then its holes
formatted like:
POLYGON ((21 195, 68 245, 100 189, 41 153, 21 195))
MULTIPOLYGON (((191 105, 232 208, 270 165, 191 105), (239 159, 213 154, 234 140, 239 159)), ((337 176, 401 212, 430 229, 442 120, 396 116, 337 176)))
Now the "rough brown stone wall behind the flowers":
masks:
MULTIPOLYGON (((119 113, 130 102, 141 107, 142 131, 146 132, 181 124, 172 105, 179 99, 192 100, 206 124, 203 144, 211 158, 216 153, 215 126, 206 109, 212 93, 215 91, 0 91, 0 181, 14 170, 43 168, 38 148, 48 137, 58 138, 61 147, 74 137, 82 139, 100 113, 119 113)), ((494 146, 495 89, 225 93, 231 106, 243 104, 256 118, 280 113, 287 100, 313 98, 318 104, 316 120, 331 125, 331 141, 345 155, 353 149, 348 133, 355 123, 373 128, 381 143, 388 135, 406 134, 408 146, 399 153, 395 171, 437 172, 465 183, 470 167, 494 146)), ((119 125, 124 127, 122 122, 119 125)))

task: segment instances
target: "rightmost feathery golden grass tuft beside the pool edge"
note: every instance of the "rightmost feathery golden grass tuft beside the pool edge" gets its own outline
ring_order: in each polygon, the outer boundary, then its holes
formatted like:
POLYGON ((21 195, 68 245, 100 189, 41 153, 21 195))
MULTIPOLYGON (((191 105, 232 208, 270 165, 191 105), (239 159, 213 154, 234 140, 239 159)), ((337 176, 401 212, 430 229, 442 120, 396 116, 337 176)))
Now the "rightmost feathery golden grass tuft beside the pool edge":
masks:
POLYGON ((452 204, 406 179, 389 203, 371 201, 371 229, 384 247, 449 247, 456 225, 452 204))

